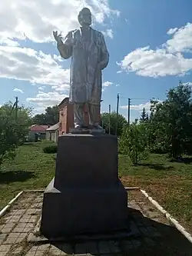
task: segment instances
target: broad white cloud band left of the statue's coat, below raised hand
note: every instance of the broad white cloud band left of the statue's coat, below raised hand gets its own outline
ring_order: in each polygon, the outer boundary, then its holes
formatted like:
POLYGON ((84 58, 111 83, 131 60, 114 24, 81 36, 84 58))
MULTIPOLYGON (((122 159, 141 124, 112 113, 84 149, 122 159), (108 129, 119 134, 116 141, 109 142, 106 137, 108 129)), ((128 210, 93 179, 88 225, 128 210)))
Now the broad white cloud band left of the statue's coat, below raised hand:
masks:
POLYGON ((0 55, 0 78, 57 86, 69 83, 69 69, 63 69, 51 55, 31 48, 1 45, 0 55))

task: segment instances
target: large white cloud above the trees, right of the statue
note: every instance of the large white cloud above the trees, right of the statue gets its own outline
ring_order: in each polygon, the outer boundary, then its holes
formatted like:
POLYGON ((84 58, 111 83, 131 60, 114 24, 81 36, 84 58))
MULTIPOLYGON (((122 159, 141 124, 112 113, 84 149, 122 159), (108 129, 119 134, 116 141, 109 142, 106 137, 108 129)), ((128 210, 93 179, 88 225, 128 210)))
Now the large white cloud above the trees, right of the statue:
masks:
POLYGON ((192 58, 184 58, 182 53, 192 50, 192 24, 188 23, 177 31, 174 29, 173 33, 173 37, 160 48, 137 48, 117 64, 127 72, 154 78, 187 74, 192 70, 192 58))

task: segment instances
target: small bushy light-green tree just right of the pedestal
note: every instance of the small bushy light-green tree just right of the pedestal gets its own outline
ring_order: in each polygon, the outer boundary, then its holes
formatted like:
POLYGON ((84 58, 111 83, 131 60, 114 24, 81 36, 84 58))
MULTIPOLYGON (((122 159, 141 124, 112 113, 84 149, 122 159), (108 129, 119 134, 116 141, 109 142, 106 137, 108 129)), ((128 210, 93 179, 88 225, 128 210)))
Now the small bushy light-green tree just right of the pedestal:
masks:
POLYGON ((147 158, 147 125, 145 123, 132 123, 124 128, 119 148, 121 153, 128 155, 134 165, 147 158))

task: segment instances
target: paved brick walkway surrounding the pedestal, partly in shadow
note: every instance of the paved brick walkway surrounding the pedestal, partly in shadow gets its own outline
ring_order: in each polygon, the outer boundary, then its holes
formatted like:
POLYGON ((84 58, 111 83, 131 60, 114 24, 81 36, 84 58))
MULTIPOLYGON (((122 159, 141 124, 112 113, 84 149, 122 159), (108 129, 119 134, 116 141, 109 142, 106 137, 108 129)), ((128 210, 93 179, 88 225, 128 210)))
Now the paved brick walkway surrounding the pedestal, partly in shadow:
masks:
POLYGON ((76 243, 29 242, 41 216, 43 194, 22 194, 11 211, 0 219, 0 256, 54 256, 71 254, 192 255, 192 244, 144 198, 140 191, 129 194, 128 238, 101 238, 76 243))

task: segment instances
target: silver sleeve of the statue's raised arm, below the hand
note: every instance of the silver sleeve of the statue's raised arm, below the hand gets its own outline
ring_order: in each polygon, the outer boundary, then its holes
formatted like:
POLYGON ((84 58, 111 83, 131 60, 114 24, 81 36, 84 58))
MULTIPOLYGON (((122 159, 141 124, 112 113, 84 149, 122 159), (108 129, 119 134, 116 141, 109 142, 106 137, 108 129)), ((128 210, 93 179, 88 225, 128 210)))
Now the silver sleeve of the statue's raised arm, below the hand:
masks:
POLYGON ((72 33, 69 32, 68 35, 66 35, 64 42, 58 43, 58 52, 62 58, 67 59, 71 57, 73 53, 72 45, 72 33))

